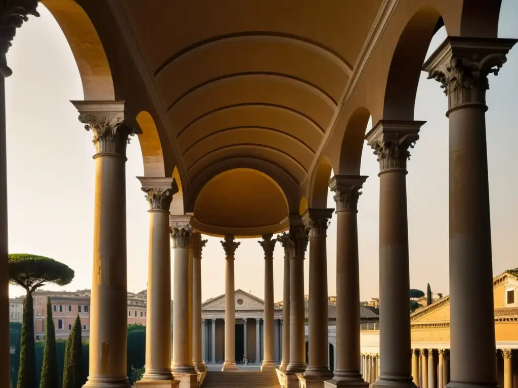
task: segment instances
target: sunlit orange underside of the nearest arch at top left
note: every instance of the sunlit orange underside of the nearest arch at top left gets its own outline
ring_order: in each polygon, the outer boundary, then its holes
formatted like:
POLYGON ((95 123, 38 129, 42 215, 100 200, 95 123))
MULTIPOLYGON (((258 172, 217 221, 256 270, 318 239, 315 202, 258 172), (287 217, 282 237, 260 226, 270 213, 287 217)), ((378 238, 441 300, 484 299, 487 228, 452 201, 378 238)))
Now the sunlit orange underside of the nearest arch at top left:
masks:
POLYGON ((52 13, 74 54, 85 100, 114 100, 108 58, 88 14, 74 0, 41 0, 52 13))

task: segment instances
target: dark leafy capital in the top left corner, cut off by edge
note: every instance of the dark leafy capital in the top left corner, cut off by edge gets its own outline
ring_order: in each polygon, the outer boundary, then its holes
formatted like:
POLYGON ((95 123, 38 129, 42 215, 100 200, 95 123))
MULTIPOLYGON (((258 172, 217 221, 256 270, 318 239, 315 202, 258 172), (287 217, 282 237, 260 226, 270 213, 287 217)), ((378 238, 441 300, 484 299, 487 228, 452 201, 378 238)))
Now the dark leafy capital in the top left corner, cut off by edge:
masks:
POLYGON ((4 0, 0 2, 0 73, 9 77, 12 70, 7 66, 6 54, 12 46, 12 39, 15 38, 16 29, 20 28, 23 22, 28 21, 28 16, 39 17, 36 10, 37 0, 4 0))

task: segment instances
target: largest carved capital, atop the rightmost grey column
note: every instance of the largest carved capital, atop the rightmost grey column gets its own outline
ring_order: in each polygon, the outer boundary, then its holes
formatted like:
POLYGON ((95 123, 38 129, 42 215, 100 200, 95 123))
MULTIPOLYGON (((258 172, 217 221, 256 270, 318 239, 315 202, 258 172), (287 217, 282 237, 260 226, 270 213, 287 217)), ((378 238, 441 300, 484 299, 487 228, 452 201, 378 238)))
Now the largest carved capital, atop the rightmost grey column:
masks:
POLYGON ((516 41, 450 36, 424 63, 423 71, 441 84, 450 109, 466 102, 485 104, 487 76, 498 74, 516 41))

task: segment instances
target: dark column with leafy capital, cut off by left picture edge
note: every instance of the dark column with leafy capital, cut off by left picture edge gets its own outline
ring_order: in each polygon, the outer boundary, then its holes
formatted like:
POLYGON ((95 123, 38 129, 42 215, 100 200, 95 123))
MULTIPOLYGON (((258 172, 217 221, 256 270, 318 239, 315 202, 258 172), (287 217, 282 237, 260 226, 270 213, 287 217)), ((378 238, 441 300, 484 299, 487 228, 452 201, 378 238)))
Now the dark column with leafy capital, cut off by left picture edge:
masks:
MULTIPOLYGON (((21 27, 27 16, 39 17, 38 2, 4 2, 0 11, 0 386, 10 387, 11 370, 9 367, 9 248, 7 222, 7 141, 5 79, 12 74, 7 66, 7 50, 15 37, 16 29, 21 27)), ((18 380, 21 386, 36 384, 36 374, 25 374, 25 380, 18 380)))

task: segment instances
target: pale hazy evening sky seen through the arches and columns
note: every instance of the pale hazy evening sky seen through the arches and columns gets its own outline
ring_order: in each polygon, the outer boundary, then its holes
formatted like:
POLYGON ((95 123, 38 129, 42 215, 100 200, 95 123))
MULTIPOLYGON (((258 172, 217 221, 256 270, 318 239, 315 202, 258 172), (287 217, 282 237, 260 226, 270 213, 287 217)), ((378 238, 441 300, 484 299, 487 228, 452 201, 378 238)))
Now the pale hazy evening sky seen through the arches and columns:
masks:
MULTIPOLYGON (((69 265, 76 273, 66 287, 91 288, 93 257, 94 146, 92 133, 77 120, 69 100, 82 100, 75 59, 56 21, 41 4, 40 18, 30 18, 18 29, 6 80, 9 252, 34 253, 69 265)), ((503 0, 499 37, 518 38, 518 2, 503 0)), ((428 54, 445 38, 442 28, 428 54)), ((515 255, 518 231, 518 45, 509 53, 498 77, 490 77, 486 114, 489 164, 493 273, 518 267, 515 255)), ((415 120, 426 120, 412 150, 407 175, 410 241, 410 286, 434 293, 449 292, 448 276, 448 120, 447 99, 439 84, 423 73, 415 103, 415 120)), ((369 122, 367 130, 370 129, 369 122)), ((138 139, 127 148, 127 261, 128 291, 147 287, 148 203, 136 176, 143 175, 138 139)), ((379 295, 378 210, 379 171, 376 157, 364 145, 361 174, 369 178, 358 203, 359 276, 361 300, 379 295)), ((253 205, 253 204, 251 204, 253 205)), ((328 207, 335 207, 328 195, 328 207)), ((206 237, 202 259, 202 299, 225 289, 225 259, 221 238, 206 237)), ((336 293, 336 220, 327 238, 328 293, 336 293)), ((263 250, 257 239, 240 240, 236 251, 236 289, 263 298, 263 250)), ((308 293, 309 260, 305 261, 308 293)), ((282 300, 283 250, 274 255, 274 295, 282 300)), ((10 296, 24 293, 10 286, 10 296)))

